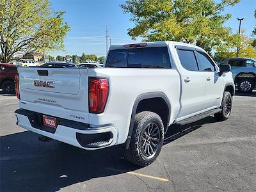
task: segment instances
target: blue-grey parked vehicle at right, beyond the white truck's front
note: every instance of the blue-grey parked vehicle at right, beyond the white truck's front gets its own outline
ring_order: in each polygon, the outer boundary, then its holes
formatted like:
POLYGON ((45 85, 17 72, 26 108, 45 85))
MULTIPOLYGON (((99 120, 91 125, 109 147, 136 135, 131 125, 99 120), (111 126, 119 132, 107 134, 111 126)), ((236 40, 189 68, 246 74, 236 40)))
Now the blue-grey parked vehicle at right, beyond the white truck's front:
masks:
POLYGON ((239 92, 252 92, 256 84, 255 58, 228 58, 224 64, 231 65, 233 79, 239 92))

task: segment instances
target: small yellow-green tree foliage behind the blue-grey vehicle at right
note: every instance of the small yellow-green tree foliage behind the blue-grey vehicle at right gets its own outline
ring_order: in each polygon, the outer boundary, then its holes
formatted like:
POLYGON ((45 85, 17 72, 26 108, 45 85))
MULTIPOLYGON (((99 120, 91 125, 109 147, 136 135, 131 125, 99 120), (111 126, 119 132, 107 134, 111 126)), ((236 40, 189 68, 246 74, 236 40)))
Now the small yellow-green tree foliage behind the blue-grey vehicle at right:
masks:
POLYGON ((232 36, 232 41, 229 44, 223 44, 218 47, 214 54, 214 60, 224 61, 225 58, 236 58, 237 45, 239 47, 238 57, 240 58, 256 58, 256 50, 252 46, 253 38, 244 35, 244 30, 238 35, 232 36))

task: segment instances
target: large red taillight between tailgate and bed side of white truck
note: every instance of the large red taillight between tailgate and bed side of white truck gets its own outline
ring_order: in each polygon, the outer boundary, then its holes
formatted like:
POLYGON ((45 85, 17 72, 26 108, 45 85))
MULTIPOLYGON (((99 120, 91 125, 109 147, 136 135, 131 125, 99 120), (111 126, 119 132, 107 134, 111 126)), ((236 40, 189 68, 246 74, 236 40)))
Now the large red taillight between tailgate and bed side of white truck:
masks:
POLYGON ((108 100, 109 84, 106 77, 89 77, 89 112, 103 113, 108 100))

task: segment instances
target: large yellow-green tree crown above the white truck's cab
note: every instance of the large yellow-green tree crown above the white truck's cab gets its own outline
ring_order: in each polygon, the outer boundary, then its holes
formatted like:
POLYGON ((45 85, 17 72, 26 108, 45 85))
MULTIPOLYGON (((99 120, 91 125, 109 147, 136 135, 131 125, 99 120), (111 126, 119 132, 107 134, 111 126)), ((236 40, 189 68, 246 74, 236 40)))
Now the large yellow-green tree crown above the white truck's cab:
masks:
POLYGON ((128 35, 143 41, 174 40, 196 44, 207 51, 219 47, 231 35, 223 26, 231 15, 222 15, 226 6, 241 0, 128 0, 121 7, 131 14, 135 27, 128 35))

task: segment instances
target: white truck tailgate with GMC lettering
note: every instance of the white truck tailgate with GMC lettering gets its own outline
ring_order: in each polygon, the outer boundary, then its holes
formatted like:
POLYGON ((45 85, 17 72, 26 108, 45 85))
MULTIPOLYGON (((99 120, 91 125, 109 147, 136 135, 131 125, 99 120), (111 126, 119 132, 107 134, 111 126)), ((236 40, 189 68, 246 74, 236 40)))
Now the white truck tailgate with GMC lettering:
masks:
POLYGON ((88 120, 86 68, 19 67, 20 108, 79 122, 88 120))

